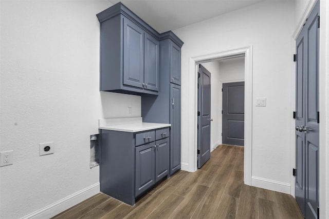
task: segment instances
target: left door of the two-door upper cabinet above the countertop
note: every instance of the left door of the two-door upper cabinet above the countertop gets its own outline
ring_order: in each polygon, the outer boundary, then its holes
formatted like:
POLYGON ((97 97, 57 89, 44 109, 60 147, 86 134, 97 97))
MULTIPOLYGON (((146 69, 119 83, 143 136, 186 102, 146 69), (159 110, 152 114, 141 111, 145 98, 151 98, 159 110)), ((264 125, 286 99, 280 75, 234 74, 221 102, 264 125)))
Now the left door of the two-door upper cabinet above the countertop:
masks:
POLYGON ((143 87, 144 31, 123 18, 123 84, 143 87))

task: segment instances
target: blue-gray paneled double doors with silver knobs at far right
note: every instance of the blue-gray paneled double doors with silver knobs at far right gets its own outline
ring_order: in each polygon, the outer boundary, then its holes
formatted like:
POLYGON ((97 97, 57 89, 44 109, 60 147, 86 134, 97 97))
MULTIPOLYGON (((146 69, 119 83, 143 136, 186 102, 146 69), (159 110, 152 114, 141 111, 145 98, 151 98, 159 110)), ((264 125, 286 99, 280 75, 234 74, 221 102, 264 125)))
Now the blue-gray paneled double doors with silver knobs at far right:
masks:
POLYGON ((296 44, 296 200, 305 218, 318 218, 319 1, 296 44))

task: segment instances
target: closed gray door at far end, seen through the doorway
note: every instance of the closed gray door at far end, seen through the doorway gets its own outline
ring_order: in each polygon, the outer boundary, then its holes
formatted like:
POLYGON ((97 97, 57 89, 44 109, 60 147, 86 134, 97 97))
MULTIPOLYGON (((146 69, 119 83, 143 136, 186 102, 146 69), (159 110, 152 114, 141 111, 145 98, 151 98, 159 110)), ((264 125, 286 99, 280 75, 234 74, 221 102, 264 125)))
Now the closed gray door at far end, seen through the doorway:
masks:
POLYGON ((244 146, 245 83, 223 84, 223 144, 244 146))

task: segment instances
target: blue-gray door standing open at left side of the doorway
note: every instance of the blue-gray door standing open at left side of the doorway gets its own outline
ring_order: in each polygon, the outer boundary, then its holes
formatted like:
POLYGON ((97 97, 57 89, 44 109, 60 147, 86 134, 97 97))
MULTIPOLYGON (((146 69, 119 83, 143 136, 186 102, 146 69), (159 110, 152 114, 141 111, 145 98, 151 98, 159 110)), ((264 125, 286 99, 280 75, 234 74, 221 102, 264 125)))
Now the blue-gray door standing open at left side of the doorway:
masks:
POLYGON ((199 65, 198 78, 198 136, 197 167, 201 168, 210 158, 210 72, 199 65))

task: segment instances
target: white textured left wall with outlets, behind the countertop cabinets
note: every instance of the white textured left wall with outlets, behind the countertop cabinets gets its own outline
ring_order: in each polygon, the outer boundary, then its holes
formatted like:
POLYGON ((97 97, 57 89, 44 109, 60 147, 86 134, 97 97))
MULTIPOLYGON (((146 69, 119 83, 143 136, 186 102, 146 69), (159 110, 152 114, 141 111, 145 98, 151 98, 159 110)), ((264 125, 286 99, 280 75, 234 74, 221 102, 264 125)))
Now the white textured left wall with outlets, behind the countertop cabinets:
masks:
POLYGON ((96 14, 109 6, 1 1, 0 150, 14 157, 0 168, 0 218, 99 191, 99 168, 89 168, 98 118, 140 116, 139 96, 99 92, 96 14), (39 143, 50 141, 54 154, 39 156, 39 143))

